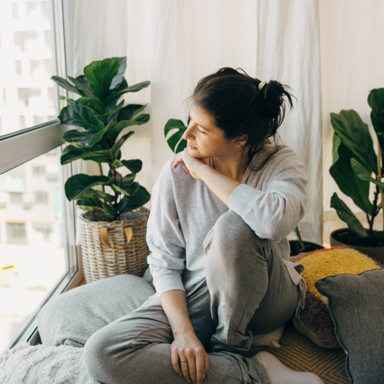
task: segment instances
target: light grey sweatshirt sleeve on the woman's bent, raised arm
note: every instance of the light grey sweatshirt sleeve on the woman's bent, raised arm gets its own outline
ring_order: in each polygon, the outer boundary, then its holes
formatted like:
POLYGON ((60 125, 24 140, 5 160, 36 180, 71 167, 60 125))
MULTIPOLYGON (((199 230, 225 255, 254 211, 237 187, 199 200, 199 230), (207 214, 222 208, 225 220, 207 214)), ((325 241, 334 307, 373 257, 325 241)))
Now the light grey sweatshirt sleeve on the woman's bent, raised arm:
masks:
POLYGON ((257 236, 279 241, 304 216, 307 179, 303 165, 291 152, 274 159, 259 172, 263 173, 262 181, 256 186, 240 184, 229 196, 227 205, 257 236))

